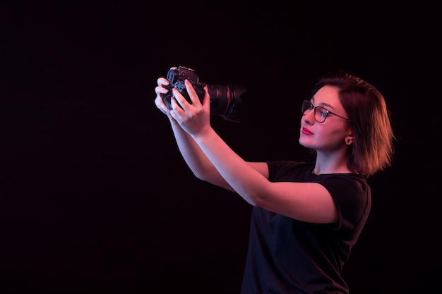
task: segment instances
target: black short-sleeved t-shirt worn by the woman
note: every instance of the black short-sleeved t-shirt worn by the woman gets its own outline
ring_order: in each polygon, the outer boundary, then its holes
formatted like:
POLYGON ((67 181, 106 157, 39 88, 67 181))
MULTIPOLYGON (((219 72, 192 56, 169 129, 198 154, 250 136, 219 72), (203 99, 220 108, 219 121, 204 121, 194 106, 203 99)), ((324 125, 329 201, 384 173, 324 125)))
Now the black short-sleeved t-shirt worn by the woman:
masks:
POLYGON ((269 180, 320 183, 333 197, 338 223, 307 223, 253 207, 241 294, 348 293, 340 273, 369 216, 371 190, 355 173, 317 176, 313 166, 269 161, 269 180))

